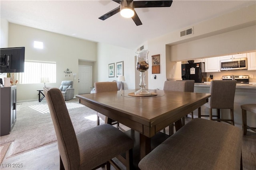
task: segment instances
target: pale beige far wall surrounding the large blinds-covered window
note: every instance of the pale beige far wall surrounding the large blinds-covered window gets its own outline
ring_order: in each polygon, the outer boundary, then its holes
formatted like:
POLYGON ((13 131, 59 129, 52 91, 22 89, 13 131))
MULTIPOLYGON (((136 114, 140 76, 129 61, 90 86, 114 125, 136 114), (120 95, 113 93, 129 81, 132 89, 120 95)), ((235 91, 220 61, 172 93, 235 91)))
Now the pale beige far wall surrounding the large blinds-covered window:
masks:
MULTIPOLYGON (((74 80, 78 75, 78 60, 96 61, 97 44, 91 41, 68 37, 40 29, 9 23, 8 47, 25 47, 25 60, 56 62, 56 83, 47 85, 60 87, 62 80, 74 80), (34 49, 33 42, 42 41, 44 49, 34 49), (65 77, 64 70, 72 71, 65 77)), ((17 100, 35 100, 37 91, 43 84, 17 84, 17 100)), ((78 79, 74 81, 75 94, 78 94, 78 79)))

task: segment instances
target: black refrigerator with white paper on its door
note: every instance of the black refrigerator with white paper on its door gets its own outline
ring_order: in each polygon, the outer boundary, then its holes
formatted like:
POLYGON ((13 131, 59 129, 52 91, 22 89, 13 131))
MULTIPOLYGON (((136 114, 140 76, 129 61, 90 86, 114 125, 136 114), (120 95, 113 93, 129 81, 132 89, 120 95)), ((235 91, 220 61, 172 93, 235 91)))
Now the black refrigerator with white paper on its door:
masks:
POLYGON ((204 63, 181 64, 182 80, 195 80, 195 83, 206 82, 204 63))

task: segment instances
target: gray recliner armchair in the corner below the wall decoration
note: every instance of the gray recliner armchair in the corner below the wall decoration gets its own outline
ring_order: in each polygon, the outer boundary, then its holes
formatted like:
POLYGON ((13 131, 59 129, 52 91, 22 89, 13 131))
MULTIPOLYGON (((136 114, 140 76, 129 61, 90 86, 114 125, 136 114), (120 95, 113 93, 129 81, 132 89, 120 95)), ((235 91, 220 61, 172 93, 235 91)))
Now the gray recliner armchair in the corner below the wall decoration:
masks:
POLYGON ((75 89, 73 88, 73 81, 62 81, 60 85, 60 91, 64 100, 70 100, 74 98, 75 89))

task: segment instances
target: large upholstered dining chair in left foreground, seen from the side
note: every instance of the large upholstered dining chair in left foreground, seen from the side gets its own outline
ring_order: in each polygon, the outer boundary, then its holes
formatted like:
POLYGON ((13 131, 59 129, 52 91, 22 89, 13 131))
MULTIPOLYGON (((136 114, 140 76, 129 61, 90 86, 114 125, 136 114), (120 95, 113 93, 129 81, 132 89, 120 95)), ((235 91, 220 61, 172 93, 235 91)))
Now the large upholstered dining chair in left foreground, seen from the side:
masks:
POLYGON ((112 158, 125 152, 125 166, 132 168, 134 143, 130 137, 109 124, 76 134, 60 89, 46 86, 44 94, 57 136, 61 170, 91 170, 104 164, 110 169, 112 158))

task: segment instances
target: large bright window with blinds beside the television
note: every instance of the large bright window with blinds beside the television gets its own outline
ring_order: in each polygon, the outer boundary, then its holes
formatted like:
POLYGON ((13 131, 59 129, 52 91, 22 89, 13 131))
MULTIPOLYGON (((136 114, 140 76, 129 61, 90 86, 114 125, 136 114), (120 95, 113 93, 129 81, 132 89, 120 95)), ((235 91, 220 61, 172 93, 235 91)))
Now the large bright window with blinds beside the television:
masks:
POLYGON ((20 84, 41 83, 42 78, 56 83, 56 62, 25 61, 24 72, 18 73, 20 84))

